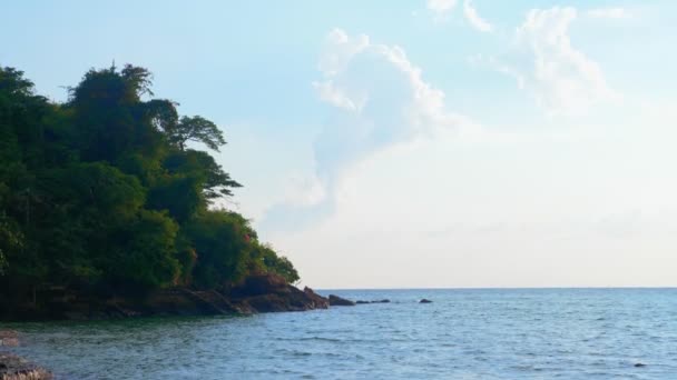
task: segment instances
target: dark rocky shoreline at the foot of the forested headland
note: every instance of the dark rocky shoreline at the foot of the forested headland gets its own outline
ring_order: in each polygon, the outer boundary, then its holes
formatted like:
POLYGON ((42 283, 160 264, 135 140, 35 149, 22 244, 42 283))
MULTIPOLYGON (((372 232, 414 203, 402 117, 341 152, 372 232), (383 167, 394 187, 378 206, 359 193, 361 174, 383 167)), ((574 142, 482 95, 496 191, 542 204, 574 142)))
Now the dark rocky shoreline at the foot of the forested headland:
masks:
POLYGON ((6 320, 88 320, 151 316, 253 314, 328 308, 328 300, 312 289, 286 283, 279 276, 251 276, 228 291, 174 288, 143 298, 96 299, 78 294, 43 300, 39 307, 2 310, 6 320))

